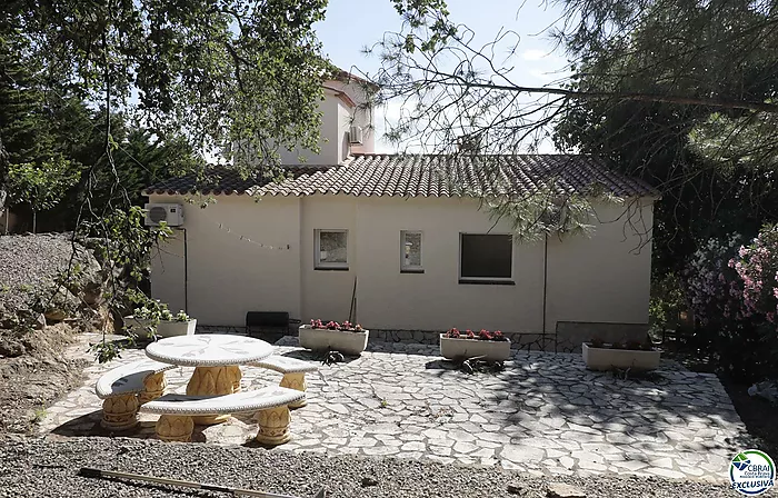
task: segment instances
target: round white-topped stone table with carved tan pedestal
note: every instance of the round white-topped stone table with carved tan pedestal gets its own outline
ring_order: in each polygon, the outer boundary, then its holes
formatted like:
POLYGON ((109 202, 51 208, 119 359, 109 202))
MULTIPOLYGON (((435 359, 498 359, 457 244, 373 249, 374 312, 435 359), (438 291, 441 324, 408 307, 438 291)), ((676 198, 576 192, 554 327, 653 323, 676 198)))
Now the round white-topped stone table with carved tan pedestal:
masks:
MULTIPOLYGON (((203 333, 160 339, 146 348, 146 356, 163 363, 194 367, 188 396, 223 396, 240 391, 240 366, 268 358, 272 345, 243 336, 203 333)), ((192 417, 194 424, 215 425, 229 415, 192 417)))

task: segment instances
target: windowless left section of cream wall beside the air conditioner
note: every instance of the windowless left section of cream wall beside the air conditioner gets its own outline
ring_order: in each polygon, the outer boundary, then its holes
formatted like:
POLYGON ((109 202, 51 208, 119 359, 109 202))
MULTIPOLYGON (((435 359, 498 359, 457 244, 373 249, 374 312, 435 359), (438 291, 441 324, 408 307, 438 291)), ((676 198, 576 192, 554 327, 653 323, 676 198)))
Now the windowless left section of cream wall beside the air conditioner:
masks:
MULTIPOLYGON (((182 202, 168 196, 151 197, 151 202, 177 200, 182 202)), ((245 325, 246 312, 251 310, 300 315, 299 198, 255 202, 248 197, 218 196, 217 203, 206 209, 182 203, 189 315, 202 325, 223 326, 245 325)), ((173 247, 162 248, 152 262, 152 297, 171 305, 182 303, 184 293, 183 231, 177 232, 173 247)), ((173 309, 180 308, 183 306, 173 309)))

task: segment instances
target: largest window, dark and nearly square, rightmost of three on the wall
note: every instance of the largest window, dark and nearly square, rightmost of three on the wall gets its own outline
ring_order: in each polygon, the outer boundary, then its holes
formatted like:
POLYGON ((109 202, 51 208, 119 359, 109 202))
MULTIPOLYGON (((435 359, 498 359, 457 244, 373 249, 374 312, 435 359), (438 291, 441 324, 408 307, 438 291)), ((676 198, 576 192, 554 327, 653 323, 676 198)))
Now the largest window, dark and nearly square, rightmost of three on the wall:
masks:
POLYGON ((511 236, 459 235, 459 278, 468 281, 510 281, 513 276, 511 236))

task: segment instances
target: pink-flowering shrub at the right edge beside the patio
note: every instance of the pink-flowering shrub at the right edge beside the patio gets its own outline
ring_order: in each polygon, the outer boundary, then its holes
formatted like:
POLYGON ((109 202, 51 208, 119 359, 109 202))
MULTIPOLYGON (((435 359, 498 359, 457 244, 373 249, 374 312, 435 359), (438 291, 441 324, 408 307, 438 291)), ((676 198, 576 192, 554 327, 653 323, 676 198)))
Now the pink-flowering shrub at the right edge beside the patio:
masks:
POLYGON ((778 230, 765 227, 749 246, 739 235, 709 240, 686 272, 698 327, 719 366, 752 381, 778 371, 778 230))

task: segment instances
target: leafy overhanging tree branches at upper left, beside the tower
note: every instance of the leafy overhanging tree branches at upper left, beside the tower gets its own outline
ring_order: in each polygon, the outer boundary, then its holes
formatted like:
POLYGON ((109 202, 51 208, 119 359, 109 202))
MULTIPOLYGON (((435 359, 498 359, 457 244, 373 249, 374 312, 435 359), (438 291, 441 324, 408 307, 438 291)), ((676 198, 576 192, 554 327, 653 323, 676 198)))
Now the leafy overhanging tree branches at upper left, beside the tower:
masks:
POLYGON ((312 24, 326 0, 20 0, 22 39, 53 79, 84 98, 123 108, 162 140, 230 155, 236 142, 258 161, 277 147, 316 149, 322 98, 312 24), (34 44, 31 41, 34 40, 34 44), (138 101, 130 99, 132 90, 138 101))

